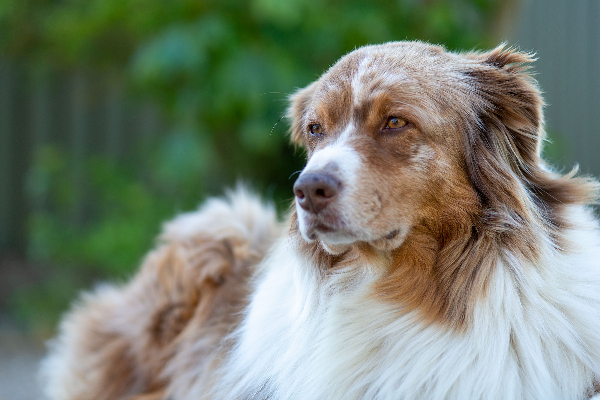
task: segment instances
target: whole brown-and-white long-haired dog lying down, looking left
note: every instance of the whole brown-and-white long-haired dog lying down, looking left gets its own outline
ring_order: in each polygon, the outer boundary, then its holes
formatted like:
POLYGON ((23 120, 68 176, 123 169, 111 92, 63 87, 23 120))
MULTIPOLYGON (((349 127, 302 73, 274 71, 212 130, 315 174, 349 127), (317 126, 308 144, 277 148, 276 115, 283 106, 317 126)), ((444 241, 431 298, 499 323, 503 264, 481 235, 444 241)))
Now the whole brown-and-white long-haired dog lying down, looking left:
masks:
POLYGON ((167 223, 82 296, 52 399, 589 399, 599 185, 541 157, 532 55, 365 46, 290 97, 293 209, 248 190, 167 223))

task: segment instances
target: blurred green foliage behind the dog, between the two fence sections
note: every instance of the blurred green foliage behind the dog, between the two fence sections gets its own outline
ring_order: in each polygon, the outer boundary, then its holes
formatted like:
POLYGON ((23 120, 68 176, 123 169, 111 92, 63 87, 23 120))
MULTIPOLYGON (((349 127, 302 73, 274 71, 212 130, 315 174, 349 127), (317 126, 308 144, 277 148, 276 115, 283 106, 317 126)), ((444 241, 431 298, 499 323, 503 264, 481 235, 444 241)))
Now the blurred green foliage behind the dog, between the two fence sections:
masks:
POLYGON ((29 256, 55 265, 43 287, 14 295, 27 321, 49 326, 94 279, 132 273, 160 223, 245 178, 287 206, 301 154, 287 144, 287 94, 368 43, 422 39, 487 47, 498 0, 4 0, 0 47, 33 67, 119 71, 131 97, 160 105, 169 129, 115 162, 81 166, 42 148, 28 175, 29 256), (43 315, 43 318, 40 318, 43 315), (37 322, 36 322, 37 321, 37 322))

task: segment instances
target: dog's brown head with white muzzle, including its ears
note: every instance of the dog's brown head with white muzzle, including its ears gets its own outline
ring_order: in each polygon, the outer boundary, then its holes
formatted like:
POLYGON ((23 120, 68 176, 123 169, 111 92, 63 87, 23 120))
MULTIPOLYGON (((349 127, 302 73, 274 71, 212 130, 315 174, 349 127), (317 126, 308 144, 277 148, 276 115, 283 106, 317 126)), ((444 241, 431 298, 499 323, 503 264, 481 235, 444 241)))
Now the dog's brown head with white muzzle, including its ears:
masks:
POLYGON ((549 209, 539 202, 571 202, 573 188, 548 178, 539 156, 529 61, 502 46, 386 43, 296 92, 291 137, 308 156, 294 185, 302 237, 331 253, 356 242, 395 249, 418 224, 443 240, 444 229, 518 228, 549 209))

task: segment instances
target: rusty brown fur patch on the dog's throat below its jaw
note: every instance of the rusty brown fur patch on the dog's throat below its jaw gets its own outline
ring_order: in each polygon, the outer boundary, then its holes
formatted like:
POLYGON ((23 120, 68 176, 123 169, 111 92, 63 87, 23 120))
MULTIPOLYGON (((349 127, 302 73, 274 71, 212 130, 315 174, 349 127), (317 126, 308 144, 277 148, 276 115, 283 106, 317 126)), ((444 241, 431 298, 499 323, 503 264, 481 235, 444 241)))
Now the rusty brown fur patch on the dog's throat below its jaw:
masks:
MULTIPOLYGON (((397 305, 403 313, 416 312, 425 323, 463 331, 473 323, 476 302, 485 297, 494 268, 505 264, 502 258, 507 253, 518 259, 511 269, 520 270, 538 265, 545 247, 564 251, 569 244, 529 199, 524 199, 526 216, 518 216, 517 226, 502 223, 506 211, 486 210, 475 199, 461 202, 470 204, 421 221, 393 250, 355 243, 343 253, 331 254, 319 240, 307 243, 301 237, 295 213, 289 217, 289 235, 315 273, 325 276, 345 265, 380 265, 379 278, 372 284, 374 297, 397 305)), ((562 211, 556 205, 552 208, 558 219, 562 211)))

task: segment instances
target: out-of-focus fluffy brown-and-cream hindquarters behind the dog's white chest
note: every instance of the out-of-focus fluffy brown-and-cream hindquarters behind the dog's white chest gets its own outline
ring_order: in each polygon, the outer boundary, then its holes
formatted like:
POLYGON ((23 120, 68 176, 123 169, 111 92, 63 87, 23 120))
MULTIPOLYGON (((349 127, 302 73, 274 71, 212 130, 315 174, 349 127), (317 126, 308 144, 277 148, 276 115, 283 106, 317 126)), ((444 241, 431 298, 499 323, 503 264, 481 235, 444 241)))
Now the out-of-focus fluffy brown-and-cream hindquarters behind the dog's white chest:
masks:
POLYGON ((158 400, 170 383, 209 386, 254 265, 280 234, 273 208, 241 187, 167 223, 130 283, 83 294, 63 318, 41 369, 47 397, 158 400))

